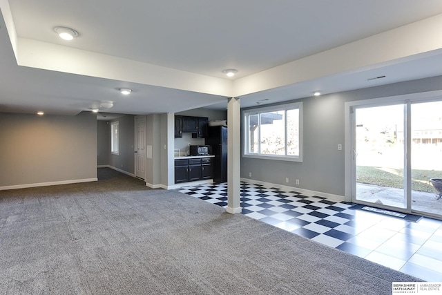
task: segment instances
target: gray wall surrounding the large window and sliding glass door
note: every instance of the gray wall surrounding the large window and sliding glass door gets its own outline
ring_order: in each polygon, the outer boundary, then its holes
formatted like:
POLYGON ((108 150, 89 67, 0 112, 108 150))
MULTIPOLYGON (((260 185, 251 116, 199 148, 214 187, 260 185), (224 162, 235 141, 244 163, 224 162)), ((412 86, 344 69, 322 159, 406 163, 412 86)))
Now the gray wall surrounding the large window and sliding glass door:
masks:
POLYGON ((344 151, 338 151, 337 145, 344 146, 345 102, 441 89, 439 76, 297 99, 303 108, 303 162, 241 158, 241 177, 344 196, 344 151))

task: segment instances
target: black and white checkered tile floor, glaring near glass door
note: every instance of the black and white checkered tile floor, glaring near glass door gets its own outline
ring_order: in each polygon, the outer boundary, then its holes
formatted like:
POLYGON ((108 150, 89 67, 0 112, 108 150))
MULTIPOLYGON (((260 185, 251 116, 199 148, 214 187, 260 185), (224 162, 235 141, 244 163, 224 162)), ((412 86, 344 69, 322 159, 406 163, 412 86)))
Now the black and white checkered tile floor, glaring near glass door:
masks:
MULTIPOLYGON (((227 207, 227 184, 179 189, 227 207)), ((352 209, 353 204, 241 184, 242 214, 427 281, 442 281, 442 221, 419 222, 352 209)))

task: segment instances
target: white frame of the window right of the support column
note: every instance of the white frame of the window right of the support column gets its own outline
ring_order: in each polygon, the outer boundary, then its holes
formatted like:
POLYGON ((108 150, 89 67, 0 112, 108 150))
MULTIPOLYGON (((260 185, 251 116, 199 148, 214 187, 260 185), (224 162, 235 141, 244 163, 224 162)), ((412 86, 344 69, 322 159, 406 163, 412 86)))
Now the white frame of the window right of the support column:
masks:
MULTIPOLYGON (((293 161, 302 162, 302 102, 294 102, 291 104, 280 104, 277 106, 267 106, 263 108, 252 108, 242 111, 242 126, 243 126, 243 149, 242 156, 244 158, 258 158, 258 159, 268 159, 268 160, 282 160, 282 161, 293 161), (299 155, 287 155, 287 111, 289 110, 299 110, 299 155), (249 153, 250 146, 250 132, 249 132, 249 116, 258 115, 260 113, 269 113, 274 111, 285 111, 285 155, 269 155, 262 153, 249 153)), ((260 129, 260 126, 258 126, 260 129)), ((260 131, 258 130, 258 136, 260 136, 260 131)), ((259 148, 258 148, 259 149, 259 148)))

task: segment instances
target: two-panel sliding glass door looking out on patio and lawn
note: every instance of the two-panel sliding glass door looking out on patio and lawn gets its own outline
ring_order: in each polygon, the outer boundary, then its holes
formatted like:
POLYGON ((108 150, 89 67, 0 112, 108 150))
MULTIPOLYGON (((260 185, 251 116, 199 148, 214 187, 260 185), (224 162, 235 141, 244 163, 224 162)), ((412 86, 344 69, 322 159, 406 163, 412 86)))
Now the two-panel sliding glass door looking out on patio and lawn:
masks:
POLYGON ((352 134, 352 202, 442 216, 442 101, 354 106, 352 134))

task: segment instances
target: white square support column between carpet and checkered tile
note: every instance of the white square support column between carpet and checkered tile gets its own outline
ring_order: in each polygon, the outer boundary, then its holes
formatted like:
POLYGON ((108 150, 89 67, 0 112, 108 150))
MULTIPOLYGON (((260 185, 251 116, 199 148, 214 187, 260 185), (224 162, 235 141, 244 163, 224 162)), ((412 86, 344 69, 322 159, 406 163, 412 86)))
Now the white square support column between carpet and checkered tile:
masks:
POLYGON ((232 97, 227 104, 227 212, 241 213, 241 105, 232 97))

